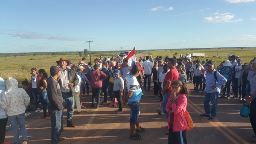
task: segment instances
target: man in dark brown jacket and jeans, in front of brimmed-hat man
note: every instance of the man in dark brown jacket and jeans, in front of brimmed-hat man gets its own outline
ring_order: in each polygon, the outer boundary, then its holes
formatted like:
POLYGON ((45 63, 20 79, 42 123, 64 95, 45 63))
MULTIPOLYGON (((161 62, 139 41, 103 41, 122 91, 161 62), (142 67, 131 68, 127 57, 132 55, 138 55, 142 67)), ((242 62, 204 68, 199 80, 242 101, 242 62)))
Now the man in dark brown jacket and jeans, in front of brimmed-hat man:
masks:
POLYGON ((51 66, 51 76, 47 80, 47 97, 49 99, 48 111, 51 115, 51 142, 52 144, 58 144, 59 141, 64 140, 65 137, 60 138, 61 135, 61 115, 63 109, 63 98, 61 94, 61 87, 58 83, 58 78, 61 74, 58 66, 51 66))

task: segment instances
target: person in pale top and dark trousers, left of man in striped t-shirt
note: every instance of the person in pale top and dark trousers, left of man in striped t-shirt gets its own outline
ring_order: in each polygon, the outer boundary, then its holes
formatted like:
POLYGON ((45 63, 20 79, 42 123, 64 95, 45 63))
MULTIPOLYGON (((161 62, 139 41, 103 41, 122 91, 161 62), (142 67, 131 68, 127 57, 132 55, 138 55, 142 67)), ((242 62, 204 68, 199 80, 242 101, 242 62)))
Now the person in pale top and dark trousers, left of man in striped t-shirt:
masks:
POLYGON ((114 74, 116 76, 116 79, 114 81, 114 98, 117 99, 119 104, 119 109, 116 109, 116 114, 122 113, 122 92, 124 90, 124 80, 122 79, 120 75, 120 71, 116 69, 114 71, 114 74))

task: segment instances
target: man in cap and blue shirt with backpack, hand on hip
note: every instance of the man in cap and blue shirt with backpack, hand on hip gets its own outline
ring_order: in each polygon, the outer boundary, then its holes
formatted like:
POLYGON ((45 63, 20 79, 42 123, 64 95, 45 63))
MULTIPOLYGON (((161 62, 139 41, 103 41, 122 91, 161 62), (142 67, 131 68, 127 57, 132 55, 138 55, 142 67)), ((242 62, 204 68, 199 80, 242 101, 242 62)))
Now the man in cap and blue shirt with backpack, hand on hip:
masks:
POLYGON ((221 86, 227 82, 227 79, 215 70, 214 62, 207 63, 208 72, 205 75, 206 94, 204 96, 204 114, 200 116, 209 117, 208 120, 214 120, 217 113, 218 94, 220 93, 221 86), (215 79, 215 73, 216 78, 215 79), (212 103, 212 108, 210 104, 212 103))

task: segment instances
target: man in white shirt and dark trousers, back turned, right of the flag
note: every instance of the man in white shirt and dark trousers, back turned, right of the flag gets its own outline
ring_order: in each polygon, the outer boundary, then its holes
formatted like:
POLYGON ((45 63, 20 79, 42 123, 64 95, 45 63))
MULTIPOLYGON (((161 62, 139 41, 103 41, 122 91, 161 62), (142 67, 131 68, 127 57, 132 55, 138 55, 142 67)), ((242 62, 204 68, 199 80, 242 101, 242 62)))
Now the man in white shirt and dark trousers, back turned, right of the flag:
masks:
POLYGON ((148 79, 148 92, 150 91, 150 83, 151 83, 151 74, 152 74, 152 67, 154 64, 149 61, 150 57, 146 56, 146 60, 142 63, 142 67, 144 68, 144 89, 146 89, 147 79, 148 79))

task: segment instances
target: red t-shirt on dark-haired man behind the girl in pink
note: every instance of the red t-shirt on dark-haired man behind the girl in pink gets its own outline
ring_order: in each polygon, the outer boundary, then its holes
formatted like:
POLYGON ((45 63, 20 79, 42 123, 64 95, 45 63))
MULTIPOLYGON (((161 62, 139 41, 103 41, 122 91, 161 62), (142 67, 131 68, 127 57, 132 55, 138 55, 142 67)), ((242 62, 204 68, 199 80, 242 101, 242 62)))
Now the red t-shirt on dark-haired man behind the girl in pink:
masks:
MULTIPOLYGON (((176 68, 171 69, 169 72, 167 72, 166 77, 163 80, 163 87, 166 85, 167 81, 172 82, 174 80, 178 80, 178 78, 179 78, 179 72, 177 71, 177 69, 176 68)), ((169 89, 167 89, 164 92, 164 94, 170 93, 170 92, 173 92, 172 86, 170 86, 169 89)))

